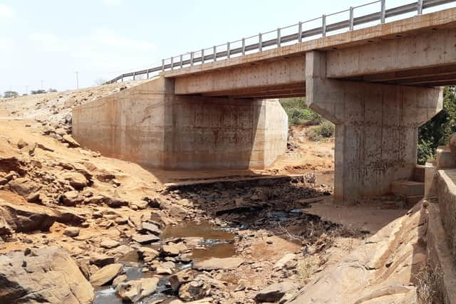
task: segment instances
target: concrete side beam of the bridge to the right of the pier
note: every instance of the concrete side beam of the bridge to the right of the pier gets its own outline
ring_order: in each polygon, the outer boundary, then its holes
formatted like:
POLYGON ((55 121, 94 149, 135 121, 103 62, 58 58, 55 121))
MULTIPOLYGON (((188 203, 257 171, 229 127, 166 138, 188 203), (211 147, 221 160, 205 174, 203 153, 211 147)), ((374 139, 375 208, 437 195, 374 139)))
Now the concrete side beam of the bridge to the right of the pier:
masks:
MULTIPOLYGON (((360 75, 397 73, 420 74, 420 69, 445 66, 456 73, 456 28, 432 28, 400 39, 375 41, 327 52, 328 78, 353 78, 360 75)), ((434 70, 436 75, 437 70, 434 70)), ((392 82, 394 78, 390 78, 392 82)))

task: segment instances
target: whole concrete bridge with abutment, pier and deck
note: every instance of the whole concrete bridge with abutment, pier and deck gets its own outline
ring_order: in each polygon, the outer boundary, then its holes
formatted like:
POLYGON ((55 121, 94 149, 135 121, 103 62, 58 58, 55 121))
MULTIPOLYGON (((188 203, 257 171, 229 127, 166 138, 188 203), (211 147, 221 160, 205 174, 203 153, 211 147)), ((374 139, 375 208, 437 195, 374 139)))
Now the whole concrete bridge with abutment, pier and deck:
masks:
MULTIPOLYGON (((152 167, 267 167, 287 136, 286 113, 269 99, 306 96, 336 124, 336 199, 389 192, 412 176, 418 127, 442 109, 442 86, 456 84, 456 8, 361 29, 354 20, 351 11, 351 30, 332 36, 323 20, 323 37, 288 46, 279 38, 258 53, 242 41, 243 56, 223 61, 214 48, 209 63, 163 63, 157 78, 74 108, 73 135, 152 167)), ((202 51, 199 60, 209 58, 202 51)))

